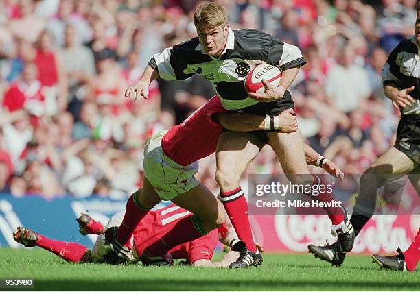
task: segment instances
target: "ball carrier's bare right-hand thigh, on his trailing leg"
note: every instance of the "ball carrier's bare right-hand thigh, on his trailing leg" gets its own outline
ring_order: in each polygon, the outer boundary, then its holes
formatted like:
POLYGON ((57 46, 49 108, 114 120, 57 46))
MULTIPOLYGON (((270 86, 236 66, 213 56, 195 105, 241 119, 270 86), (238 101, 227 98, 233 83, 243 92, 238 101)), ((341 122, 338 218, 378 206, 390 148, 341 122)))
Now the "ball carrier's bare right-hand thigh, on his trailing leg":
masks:
POLYGON ((270 132, 267 133, 267 136, 268 143, 275 151, 289 180, 292 182, 298 180, 296 175, 301 175, 299 180, 312 180, 309 178, 310 172, 305 159, 305 144, 299 130, 293 133, 270 132))

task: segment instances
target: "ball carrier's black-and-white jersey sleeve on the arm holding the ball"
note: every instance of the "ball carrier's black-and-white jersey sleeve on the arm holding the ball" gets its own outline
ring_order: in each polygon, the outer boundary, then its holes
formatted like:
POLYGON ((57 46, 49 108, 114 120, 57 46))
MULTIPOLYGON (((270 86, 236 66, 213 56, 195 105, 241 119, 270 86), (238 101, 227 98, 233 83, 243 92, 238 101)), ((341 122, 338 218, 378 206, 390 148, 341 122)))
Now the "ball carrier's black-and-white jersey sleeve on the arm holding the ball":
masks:
POLYGON ((279 66, 281 71, 300 67, 307 63, 298 47, 274 37, 272 38, 270 51, 268 51, 267 62, 279 66))

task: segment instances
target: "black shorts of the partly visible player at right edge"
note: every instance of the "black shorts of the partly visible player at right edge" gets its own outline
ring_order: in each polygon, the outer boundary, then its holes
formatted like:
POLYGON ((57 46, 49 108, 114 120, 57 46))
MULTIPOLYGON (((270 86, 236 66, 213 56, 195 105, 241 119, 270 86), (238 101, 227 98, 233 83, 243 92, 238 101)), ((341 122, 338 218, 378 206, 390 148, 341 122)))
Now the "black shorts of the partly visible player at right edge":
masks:
POLYGON ((420 116, 402 116, 398 123, 395 148, 420 165, 420 116))

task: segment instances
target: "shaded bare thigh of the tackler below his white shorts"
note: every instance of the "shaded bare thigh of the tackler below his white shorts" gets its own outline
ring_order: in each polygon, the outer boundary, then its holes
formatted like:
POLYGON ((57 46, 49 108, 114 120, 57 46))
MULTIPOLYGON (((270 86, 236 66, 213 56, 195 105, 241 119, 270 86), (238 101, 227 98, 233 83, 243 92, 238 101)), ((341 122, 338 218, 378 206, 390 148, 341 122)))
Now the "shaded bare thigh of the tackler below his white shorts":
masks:
POLYGON ((200 183, 195 188, 174 197, 172 202, 196 215, 202 223, 209 227, 207 231, 226 221, 226 212, 222 203, 204 184, 200 183))

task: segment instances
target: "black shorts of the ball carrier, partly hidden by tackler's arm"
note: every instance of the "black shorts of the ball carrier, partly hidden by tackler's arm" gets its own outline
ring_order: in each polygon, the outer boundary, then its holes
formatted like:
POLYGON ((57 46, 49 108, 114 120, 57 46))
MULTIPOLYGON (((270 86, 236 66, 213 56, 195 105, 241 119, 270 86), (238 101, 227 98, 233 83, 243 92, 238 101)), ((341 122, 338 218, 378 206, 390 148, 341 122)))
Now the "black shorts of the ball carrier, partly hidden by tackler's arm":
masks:
MULTIPOLYGON (((294 102, 292 100, 292 95, 290 94, 289 90, 286 90, 283 98, 272 101, 272 102, 260 102, 254 106, 248 106, 248 108, 243 108, 242 112, 246 112, 248 114, 260 114, 261 116, 265 116, 268 114, 269 116, 278 116, 284 110, 288 108, 294 108, 294 102)), ((262 143, 268 143, 267 132, 278 132, 277 130, 257 130, 253 131, 255 136, 261 141, 262 143)))

